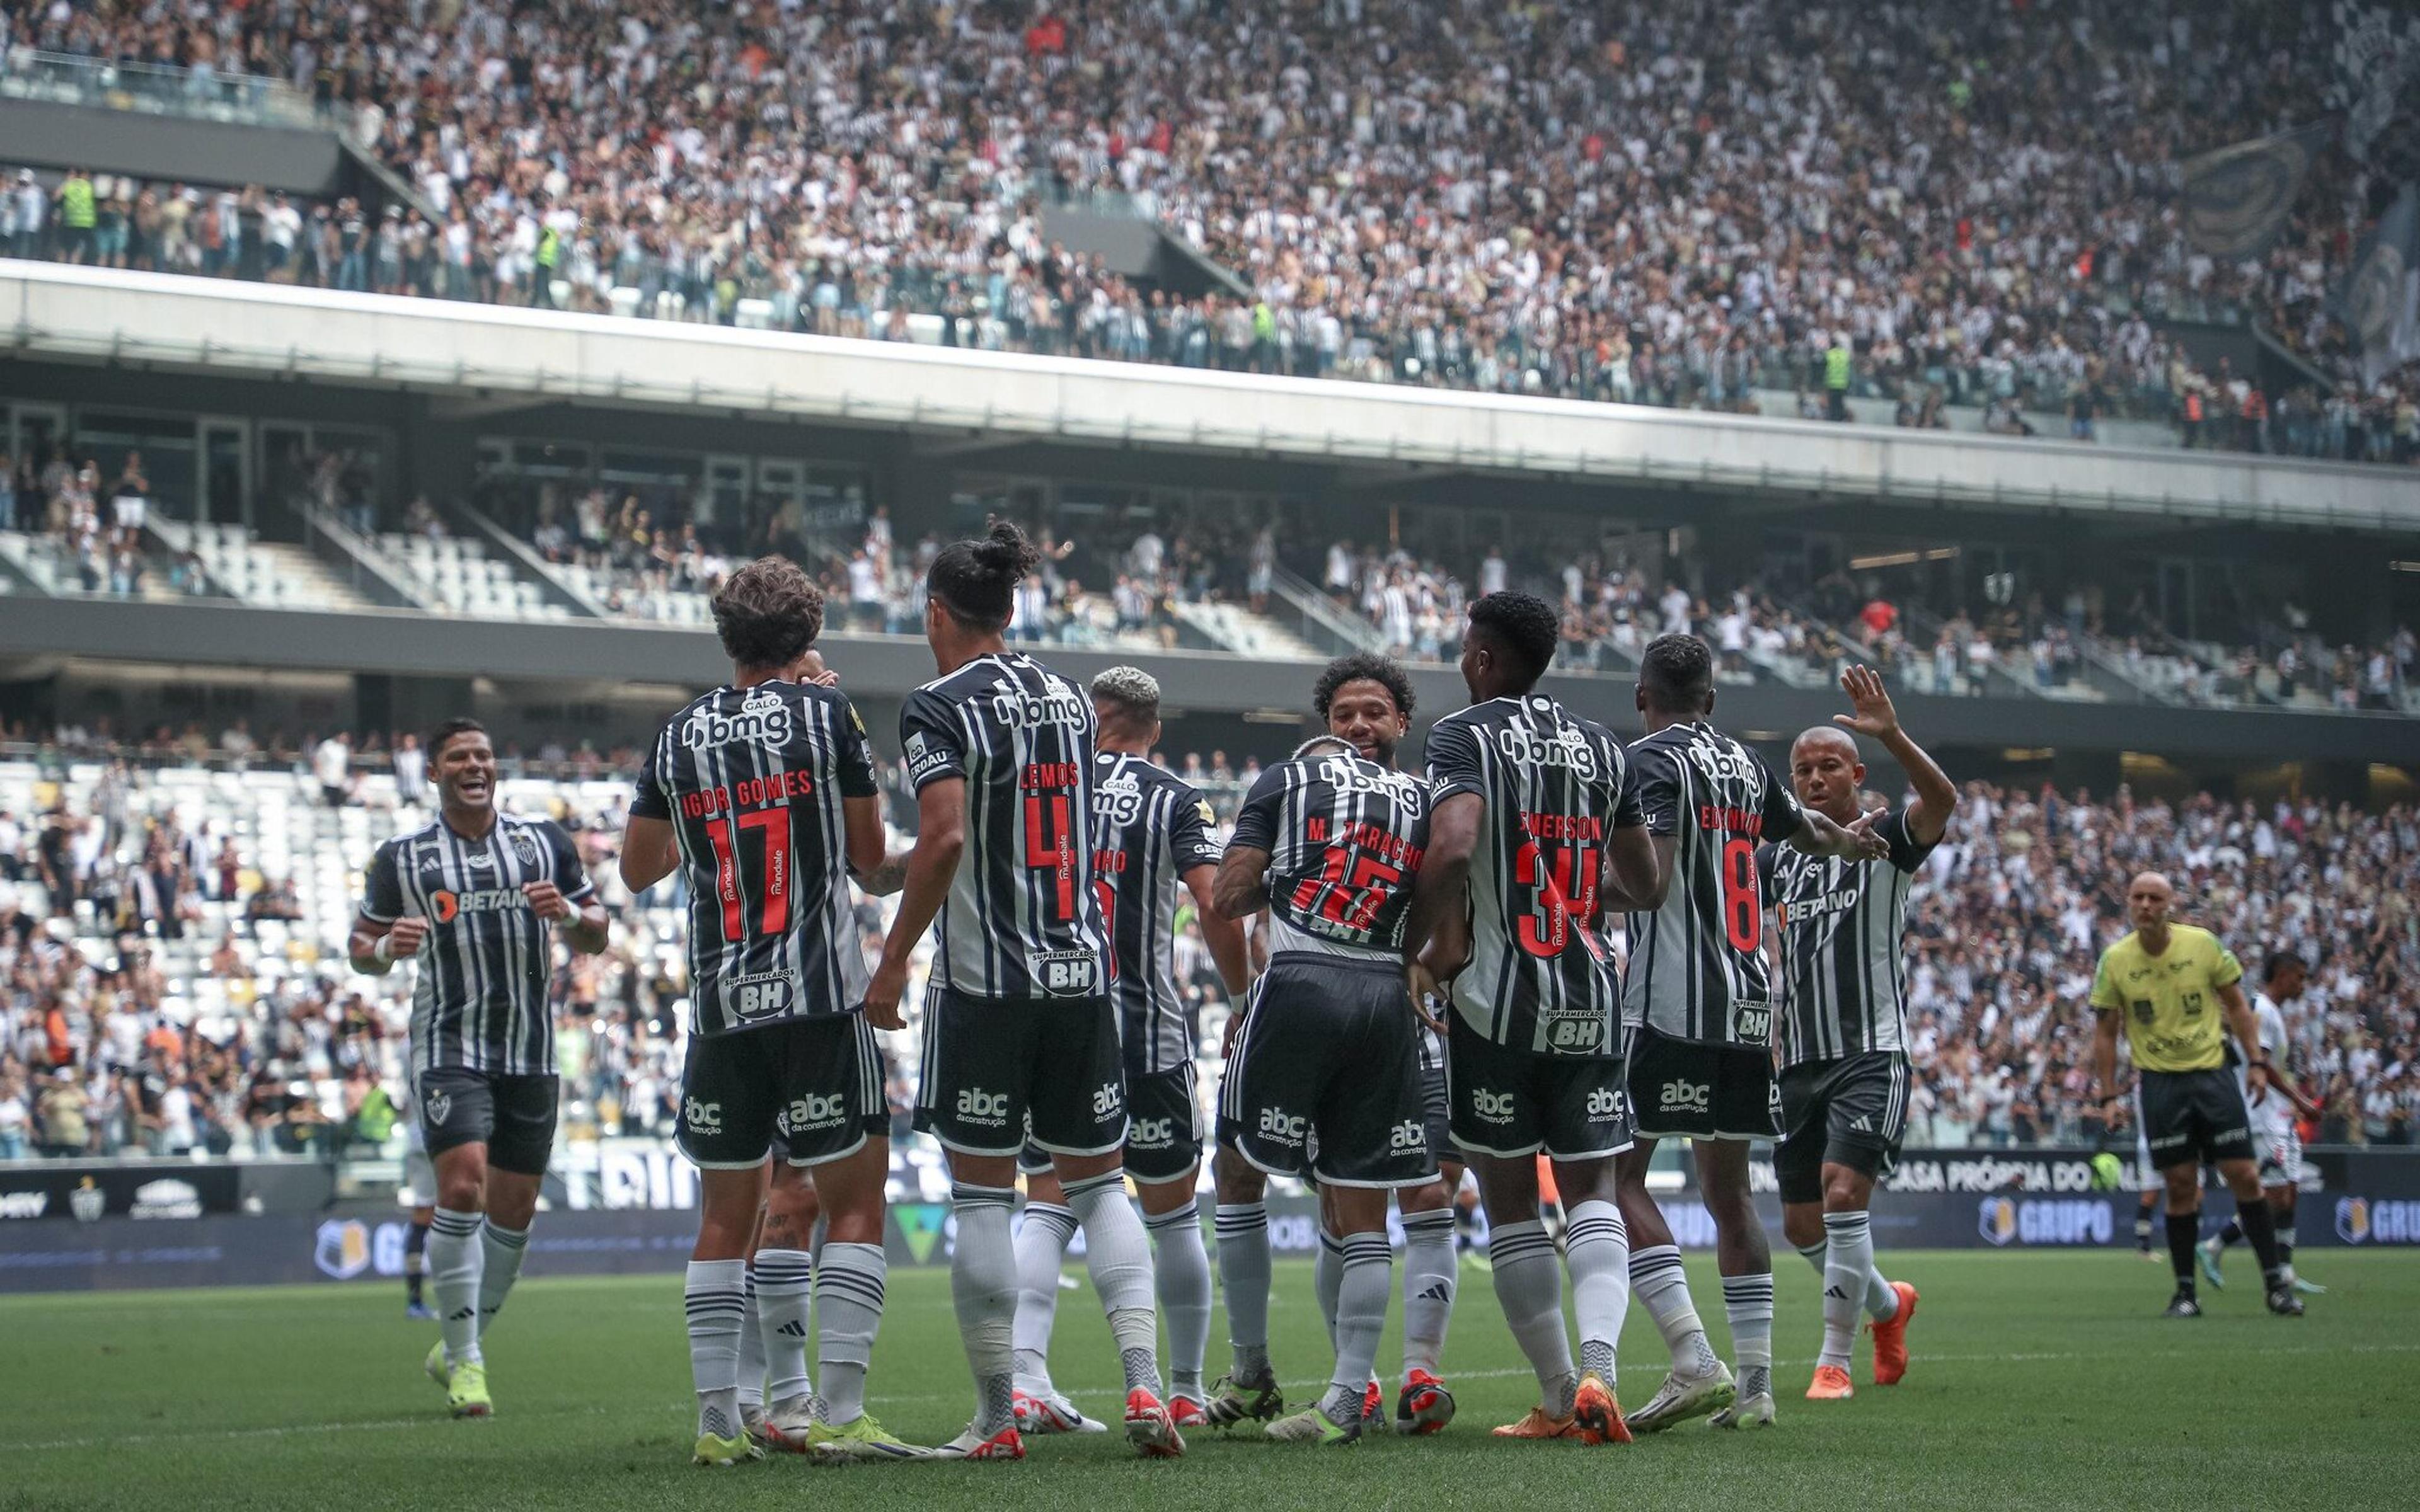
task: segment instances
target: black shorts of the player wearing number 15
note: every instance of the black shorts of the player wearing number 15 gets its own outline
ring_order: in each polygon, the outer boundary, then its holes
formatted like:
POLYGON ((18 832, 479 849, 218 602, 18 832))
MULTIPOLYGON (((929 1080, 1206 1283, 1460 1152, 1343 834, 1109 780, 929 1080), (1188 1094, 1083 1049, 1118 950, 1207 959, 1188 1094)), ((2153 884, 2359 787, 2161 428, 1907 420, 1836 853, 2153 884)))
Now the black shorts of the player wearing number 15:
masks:
POLYGON ((1435 1181, 1421 1033, 1392 960, 1270 958, 1220 1086, 1220 1142, 1261 1171, 1329 1185, 1435 1181))

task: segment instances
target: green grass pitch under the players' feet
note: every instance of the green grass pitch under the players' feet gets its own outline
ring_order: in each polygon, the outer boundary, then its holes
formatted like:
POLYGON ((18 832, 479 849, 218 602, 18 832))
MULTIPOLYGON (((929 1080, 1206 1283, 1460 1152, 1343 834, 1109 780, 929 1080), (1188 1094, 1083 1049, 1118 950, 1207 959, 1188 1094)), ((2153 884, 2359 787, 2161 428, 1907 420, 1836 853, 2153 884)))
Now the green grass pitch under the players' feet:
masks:
MULTIPOLYGON (((1462 1415, 1435 1439, 1350 1449, 1195 1432, 1179 1464, 1118 1435, 1028 1439, 1026 1464, 813 1468, 687 1464, 692 1398, 678 1277, 549 1280, 513 1294, 489 1340, 496 1418, 450 1422, 394 1285, 0 1299, 0 1507, 2212 1507, 2420 1505, 2420 1258, 2311 1253, 2333 1289, 2301 1321, 2260 1309, 2251 1260, 2197 1323, 2159 1318, 2166 1272, 2130 1251, 1907 1253, 1924 1309, 1914 1367, 1851 1403, 1800 1401, 1815 1272, 1781 1253, 1781 1422, 1701 1422, 1621 1449, 1520 1444, 1488 1427, 1534 1401, 1488 1277, 1464 1268, 1447 1379, 1462 1415)), ((1692 1289, 1723 1343, 1711 1260, 1692 1289)), ((1394 1328, 1382 1372, 1399 1364, 1394 1328)), ((1302 1263, 1278 1268, 1290 1398, 1326 1369, 1302 1263)), ((1212 1323, 1212 1374, 1225 1326, 1212 1323)), ((1725 1350, 1728 1352, 1728 1350, 1725 1350)), ((1631 1309, 1621 1396, 1646 1401, 1663 1347, 1631 1309)), ((1060 1294, 1055 1369, 1116 1415, 1116 1357, 1091 1287, 1060 1294)), ((941 1270, 895 1270, 874 1410, 934 1442, 970 1408, 941 1270)))

